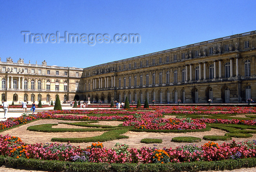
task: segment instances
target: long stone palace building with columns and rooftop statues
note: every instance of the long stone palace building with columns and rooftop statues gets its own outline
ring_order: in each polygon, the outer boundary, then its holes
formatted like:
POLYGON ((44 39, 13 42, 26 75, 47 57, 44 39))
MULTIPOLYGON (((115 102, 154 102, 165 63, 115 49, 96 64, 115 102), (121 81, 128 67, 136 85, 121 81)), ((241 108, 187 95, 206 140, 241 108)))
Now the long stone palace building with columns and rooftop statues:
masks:
POLYGON ((256 31, 194 43, 88 68, 0 61, 1 100, 47 104, 63 100, 110 103, 246 103, 256 98, 256 31))

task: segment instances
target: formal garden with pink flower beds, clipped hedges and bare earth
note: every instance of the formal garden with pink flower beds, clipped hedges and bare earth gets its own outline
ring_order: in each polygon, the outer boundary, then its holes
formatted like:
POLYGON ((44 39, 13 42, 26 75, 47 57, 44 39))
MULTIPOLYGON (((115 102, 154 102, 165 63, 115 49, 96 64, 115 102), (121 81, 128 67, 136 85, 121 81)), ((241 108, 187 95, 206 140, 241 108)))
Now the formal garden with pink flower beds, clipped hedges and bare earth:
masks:
MULTIPOLYGON (((105 106, 105 105, 102 105, 105 106)), ((256 167, 256 108, 50 110, 0 122, 0 165, 46 171, 256 167)))

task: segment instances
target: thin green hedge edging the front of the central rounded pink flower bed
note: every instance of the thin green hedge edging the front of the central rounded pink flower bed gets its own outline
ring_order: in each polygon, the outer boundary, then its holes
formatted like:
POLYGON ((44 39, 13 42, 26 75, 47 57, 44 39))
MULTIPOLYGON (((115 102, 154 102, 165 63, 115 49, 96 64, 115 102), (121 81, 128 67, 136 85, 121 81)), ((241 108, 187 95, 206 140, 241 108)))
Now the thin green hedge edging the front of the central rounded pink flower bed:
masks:
POLYGON ((205 129, 193 129, 193 130, 143 130, 143 129, 130 129, 134 132, 148 132, 148 133, 191 133, 191 132, 203 132, 211 131, 211 127, 206 126, 205 129))

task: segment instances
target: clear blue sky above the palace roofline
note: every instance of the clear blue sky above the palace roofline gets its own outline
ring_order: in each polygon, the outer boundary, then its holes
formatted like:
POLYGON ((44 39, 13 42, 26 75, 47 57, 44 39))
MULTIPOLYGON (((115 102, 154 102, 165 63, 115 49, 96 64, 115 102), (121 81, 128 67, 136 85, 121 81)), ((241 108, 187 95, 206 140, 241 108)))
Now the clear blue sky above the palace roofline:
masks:
POLYGON ((4 1, 0 57, 86 68, 256 30, 256 1, 4 1), (139 34, 140 43, 24 43, 31 34, 139 34))

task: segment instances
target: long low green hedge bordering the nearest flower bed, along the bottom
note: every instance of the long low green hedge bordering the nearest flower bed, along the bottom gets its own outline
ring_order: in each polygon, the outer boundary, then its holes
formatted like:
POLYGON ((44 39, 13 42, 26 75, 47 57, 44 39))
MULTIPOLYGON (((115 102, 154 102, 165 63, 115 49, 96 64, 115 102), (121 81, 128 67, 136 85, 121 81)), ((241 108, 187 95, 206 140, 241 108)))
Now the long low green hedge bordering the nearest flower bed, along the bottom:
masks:
POLYGON ((178 172, 178 171, 210 171, 233 170, 256 167, 256 158, 222 161, 196 161, 192 163, 168 164, 108 164, 108 163, 76 163, 67 161, 49 161, 26 158, 10 158, 0 156, 0 165, 11 168, 26 168, 44 171, 69 172, 178 172))

